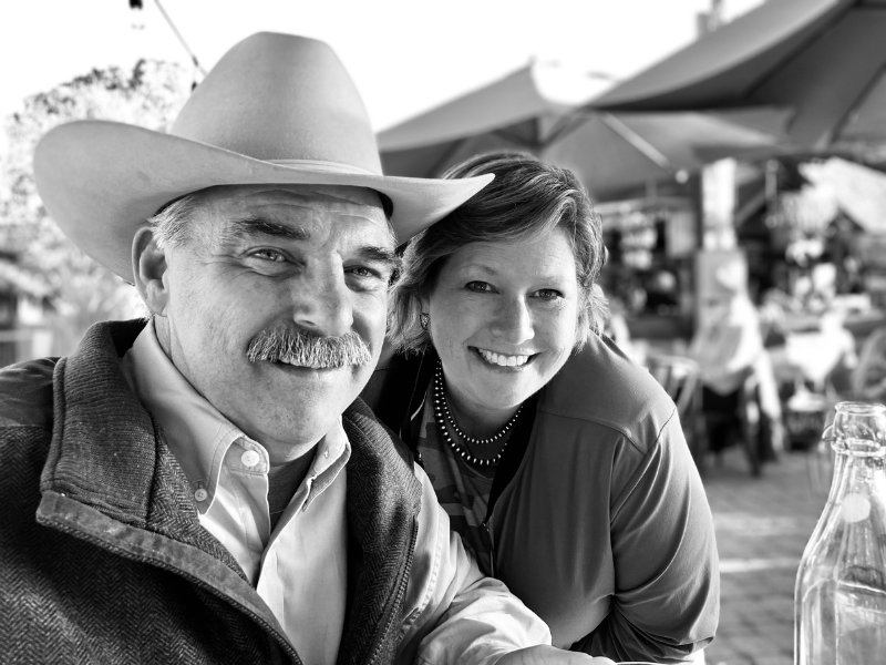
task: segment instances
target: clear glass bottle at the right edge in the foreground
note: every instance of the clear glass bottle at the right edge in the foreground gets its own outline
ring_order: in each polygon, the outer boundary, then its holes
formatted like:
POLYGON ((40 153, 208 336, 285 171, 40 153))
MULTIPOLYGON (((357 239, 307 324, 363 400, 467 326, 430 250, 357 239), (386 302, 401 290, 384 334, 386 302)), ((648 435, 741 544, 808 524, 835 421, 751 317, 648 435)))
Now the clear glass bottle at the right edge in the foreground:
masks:
POLYGON ((796 576, 796 665, 886 663, 886 407, 835 411, 831 493, 796 576))

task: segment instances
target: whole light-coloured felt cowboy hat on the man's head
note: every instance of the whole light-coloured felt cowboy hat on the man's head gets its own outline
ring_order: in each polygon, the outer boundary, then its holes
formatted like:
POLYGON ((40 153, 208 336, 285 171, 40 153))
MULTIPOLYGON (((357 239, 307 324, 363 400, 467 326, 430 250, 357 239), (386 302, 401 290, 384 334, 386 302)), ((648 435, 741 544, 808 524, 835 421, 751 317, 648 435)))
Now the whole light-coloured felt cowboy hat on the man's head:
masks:
POLYGON ((61 229, 127 282, 138 227, 206 187, 369 187, 390 198, 402 243, 492 180, 382 175, 363 102, 332 49, 270 32, 246 38, 218 61, 169 134, 107 121, 60 125, 37 146, 34 178, 61 229))

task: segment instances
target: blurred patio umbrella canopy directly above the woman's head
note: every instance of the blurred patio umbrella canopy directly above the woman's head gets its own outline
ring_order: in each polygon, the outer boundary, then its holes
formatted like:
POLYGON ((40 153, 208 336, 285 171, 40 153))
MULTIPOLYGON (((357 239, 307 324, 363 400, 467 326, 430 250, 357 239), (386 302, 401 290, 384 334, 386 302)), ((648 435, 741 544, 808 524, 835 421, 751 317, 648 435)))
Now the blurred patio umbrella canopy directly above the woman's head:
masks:
POLYGON ((429 177, 474 154, 527 151, 576 172, 597 198, 723 156, 773 150, 775 137, 697 112, 609 113, 550 99, 528 65, 378 134, 389 175, 429 177))

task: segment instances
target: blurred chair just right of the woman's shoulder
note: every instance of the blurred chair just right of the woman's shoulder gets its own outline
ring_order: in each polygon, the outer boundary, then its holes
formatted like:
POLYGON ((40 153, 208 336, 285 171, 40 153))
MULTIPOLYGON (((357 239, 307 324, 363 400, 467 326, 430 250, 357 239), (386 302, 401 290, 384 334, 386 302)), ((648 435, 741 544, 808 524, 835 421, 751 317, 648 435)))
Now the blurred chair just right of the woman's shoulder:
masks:
POLYGON ((698 362, 686 356, 650 354, 646 359, 646 368, 677 406, 689 452, 696 460, 699 473, 704 473, 708 437, 701 411, 701 371, 698 362))

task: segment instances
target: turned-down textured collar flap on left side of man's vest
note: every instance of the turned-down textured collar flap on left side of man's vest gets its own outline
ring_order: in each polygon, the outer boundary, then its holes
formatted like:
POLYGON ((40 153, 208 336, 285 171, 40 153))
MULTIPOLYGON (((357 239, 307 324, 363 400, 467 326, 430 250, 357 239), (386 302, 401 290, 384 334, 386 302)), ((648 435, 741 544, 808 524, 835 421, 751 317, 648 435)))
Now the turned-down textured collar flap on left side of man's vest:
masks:
POLYGON ((243 575, 200 525, 182 468, 121 370, 120 357, 144 326, 96 324, 56 365, 52 443, 40 489, 198 548, 243 575))

